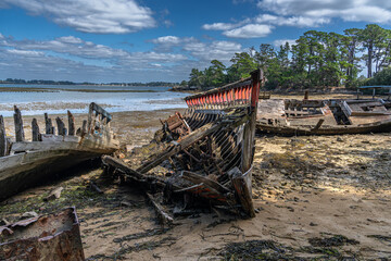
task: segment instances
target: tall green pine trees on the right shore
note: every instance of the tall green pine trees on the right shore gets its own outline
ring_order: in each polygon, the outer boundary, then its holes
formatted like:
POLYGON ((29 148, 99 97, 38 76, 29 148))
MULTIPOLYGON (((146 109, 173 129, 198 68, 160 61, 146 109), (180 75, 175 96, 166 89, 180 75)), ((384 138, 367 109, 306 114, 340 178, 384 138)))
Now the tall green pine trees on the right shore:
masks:
POLYGON ((370 78, 390 66, 391 30, 376 24, 364 29, 345 29, 343 35, 308 30, 292 46, 286 42, 275 48, 262 44, 258 50, 251 48, 249 52, 235 53, 230 61, 229 67, 213 60, 203 71, 192 69, 188 85, 217 87, 261 67, 269 89, 356 87, 366 84, 365 77, 358 77, 364 69, 370 78))

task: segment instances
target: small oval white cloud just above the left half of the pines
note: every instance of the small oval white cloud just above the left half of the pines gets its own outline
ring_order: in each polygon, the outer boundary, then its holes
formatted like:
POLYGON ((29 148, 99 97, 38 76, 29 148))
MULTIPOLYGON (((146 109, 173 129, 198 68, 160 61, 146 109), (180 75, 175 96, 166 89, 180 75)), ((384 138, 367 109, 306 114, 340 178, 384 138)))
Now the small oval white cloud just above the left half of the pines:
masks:
POLYGON ((223 35, 231 38, 258 38, 272 33, 273 26, 265 24, 248 24, 239 28, 225 30, 223 35))

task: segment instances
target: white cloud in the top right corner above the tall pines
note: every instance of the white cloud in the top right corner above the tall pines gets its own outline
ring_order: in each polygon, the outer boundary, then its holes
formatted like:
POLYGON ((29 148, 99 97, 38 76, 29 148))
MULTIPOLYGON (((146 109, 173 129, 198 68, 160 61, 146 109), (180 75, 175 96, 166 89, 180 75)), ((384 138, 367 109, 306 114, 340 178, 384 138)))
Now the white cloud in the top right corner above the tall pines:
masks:
POLYGON ((369 23, 391 22, 390 1, 381 0, 262 0, 257 7, 279 15, 340 17, 344 21, 369 23))

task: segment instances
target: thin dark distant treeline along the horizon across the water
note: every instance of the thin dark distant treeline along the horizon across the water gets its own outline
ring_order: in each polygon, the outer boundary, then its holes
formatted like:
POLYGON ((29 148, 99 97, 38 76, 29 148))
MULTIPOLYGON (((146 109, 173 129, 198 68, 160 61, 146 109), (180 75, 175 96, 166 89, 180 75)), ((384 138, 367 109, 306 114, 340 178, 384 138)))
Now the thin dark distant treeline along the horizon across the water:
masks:
POLYGON ((18 78, 7 78, 0 80, 0 84, 35 84, 35 85, 110 85, 110 86, 154 86, 154 87, 171 87, 179 85, 179 83, 167 83, 167 82, 150 82, 150 83, 108 83, 108 84, 96 84, 96 83, 73 83, 70 80, 47 80, 47 79, 18 79, 18 78))

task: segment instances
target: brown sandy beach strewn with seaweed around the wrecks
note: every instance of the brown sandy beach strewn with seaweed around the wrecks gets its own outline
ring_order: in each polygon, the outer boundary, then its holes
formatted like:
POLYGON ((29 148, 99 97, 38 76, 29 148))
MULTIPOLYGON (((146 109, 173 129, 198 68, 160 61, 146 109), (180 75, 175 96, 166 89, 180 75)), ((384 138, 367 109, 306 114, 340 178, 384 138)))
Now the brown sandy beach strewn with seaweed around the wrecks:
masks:
MULTIPOLYGON (((301 97, 298 97, 301 98, 301 97)), ((113 113, 123 145, 152 139, 178 110, 113 113)), ((179 110, 180 111, 180 110, 179 110)), ((86 115, 76 114, 79 125, 86 115)), ((54 115, 52 115, 54 117, 54 115)), ((30 135, 25 121, 26 136, 30 135), (28 134, 28 135, 27 135, 28 134)), ((38 117, 43 129, 43 116, 38 117)), ((12 133, 12 119, 5 119, 12 133)), ((161 227, 137 187, 121 186, 90 165, 0 203, 0 220, 75 206, 87 260, 387 260, 391 258, 391 134, 257 136, 254 219, 211 209, 161 227), (93 181, 104 194, 89 190, 93 181), (42 199, 56 187, 60 199, 42 199)))

